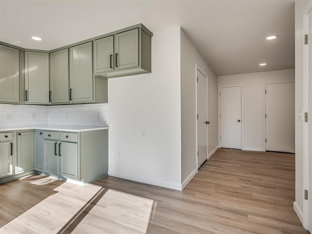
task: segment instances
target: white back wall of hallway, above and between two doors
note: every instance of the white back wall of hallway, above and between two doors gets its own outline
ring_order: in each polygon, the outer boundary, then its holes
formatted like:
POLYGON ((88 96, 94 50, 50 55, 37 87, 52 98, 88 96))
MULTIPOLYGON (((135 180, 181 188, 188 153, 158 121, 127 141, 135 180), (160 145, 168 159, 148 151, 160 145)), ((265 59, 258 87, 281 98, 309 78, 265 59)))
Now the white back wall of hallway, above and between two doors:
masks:
POLYGON ((242 85, 243 150, 265 151, 265 84, 294 82, 294 69, 218 77, 218 86, 242 85))

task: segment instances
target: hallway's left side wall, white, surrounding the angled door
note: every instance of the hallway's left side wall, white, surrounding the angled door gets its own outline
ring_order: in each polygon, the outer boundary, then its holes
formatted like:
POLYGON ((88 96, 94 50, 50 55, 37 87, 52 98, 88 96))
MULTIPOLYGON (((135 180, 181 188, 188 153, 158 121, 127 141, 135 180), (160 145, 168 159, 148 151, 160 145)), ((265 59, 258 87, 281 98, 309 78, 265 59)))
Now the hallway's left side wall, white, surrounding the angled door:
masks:
POLYGON ((217 76, 181 29, 181 179, 183 186, 197 171, 196 65, 208 76, 208 120, 210 122, 208 152, 210 154, 218 146, 217 76))

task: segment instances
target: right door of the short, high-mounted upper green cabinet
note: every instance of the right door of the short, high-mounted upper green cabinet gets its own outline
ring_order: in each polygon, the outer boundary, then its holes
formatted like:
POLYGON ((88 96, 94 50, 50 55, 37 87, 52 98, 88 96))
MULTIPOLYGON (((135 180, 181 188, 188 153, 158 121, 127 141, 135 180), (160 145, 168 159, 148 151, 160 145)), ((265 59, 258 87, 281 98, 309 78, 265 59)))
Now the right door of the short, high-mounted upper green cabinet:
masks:
POLYGON ((138 66, 138 29, 115 35, 115 69, 138 66))

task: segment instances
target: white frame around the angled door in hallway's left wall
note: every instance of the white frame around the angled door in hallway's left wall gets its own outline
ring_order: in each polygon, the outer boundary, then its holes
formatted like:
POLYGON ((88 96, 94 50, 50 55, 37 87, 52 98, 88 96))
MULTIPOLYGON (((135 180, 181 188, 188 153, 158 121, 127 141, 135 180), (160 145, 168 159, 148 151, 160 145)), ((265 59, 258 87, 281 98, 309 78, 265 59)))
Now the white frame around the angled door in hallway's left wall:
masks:
MULTIPOLYGON (((197 157, 197 152, 198 152, 198 124, 197 124, 197 76, 198 76, 198 71, 203 74, 206 77, 206 81, 207 81, 207 118, 209 118, 208 116, 208 75, 203 72, 203 69, 201 69, 197 64, 196 64, 196 76, 195 76, 195 122, 196 122, 196 169, 198 171, 198 157, 197 157)), ((208 119, 206 120, 208 121, 208 119)), ((208 155, 209 155, 209 135, 208 135, 208 126, 207 126, 207 160, 208 160, 208 155)))

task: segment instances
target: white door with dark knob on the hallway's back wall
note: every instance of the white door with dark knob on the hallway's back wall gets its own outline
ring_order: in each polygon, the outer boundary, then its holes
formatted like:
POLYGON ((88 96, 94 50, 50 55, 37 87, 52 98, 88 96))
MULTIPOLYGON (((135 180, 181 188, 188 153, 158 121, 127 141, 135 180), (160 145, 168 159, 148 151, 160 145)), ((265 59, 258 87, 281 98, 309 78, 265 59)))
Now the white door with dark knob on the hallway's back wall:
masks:
POLYGON ((241 149, 241 86, 220 88, 220 146, 241 149))

